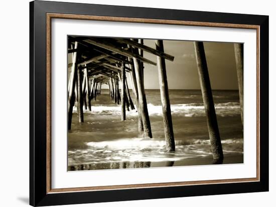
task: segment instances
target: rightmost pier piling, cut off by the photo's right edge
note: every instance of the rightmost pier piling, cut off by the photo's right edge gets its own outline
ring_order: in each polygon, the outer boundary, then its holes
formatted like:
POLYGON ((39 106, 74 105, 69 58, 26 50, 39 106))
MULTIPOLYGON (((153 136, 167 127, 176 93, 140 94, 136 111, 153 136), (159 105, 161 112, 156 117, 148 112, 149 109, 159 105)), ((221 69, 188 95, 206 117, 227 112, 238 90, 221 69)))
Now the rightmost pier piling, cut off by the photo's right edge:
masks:
POLYGON ((243 44, 234 43, 234 51, 238 76, 241 123, 243 125, 243 44))

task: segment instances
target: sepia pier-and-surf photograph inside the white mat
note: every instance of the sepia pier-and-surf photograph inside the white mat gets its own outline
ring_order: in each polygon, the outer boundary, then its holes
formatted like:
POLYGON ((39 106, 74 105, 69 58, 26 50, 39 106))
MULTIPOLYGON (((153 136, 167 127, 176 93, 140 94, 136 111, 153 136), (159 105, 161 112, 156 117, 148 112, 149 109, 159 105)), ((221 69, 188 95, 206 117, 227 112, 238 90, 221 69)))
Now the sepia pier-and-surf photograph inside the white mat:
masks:
POLYGON ((67 35, 68 171, 243 163, 243 44, 67 35))

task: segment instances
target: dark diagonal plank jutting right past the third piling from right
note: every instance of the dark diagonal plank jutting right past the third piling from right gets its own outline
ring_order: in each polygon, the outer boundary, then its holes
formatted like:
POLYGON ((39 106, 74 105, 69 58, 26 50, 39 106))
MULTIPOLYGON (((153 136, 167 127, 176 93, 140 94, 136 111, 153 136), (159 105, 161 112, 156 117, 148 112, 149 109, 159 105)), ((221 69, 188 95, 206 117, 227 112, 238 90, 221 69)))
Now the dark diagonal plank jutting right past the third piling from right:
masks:
POLYGON ((133 47, 136 47, 136 48, 139 48, 139 49, 142 49, 144 51, 147 51, 149 53, 152 53, 154 55, 157 55, 157 56, 160 56, 160 57, 163 57, 167 60, 170 60, 170 61, 174 61, 174 56, 172 55, 169 55, 167 53, 164 53, 164 52, 160 52, 154 48, 151 48, 151 47, 148 47, 146 45, 143 45, 143 44, 140 44, 138 42, 135 42, 133 40, 129 40, 129 39, 117 39, 116 38, 116 41, 119 42, 119 43, 125 43, 125 44, 128 44, 128 45, 131 45, 133 47))

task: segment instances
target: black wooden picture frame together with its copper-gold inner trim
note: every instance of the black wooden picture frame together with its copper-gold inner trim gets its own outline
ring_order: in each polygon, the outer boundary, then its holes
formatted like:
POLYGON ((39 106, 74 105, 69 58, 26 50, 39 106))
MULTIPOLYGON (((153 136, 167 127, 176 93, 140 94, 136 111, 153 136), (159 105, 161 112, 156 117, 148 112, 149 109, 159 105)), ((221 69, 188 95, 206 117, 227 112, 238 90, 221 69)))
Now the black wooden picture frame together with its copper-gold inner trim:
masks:
POLYGON ((268 191, 268 16, 34 1, 30 3, 30 204, 33 206, 268 191), (252 29, 257 33, 255 178, 51 188, 51 20, 252 29))

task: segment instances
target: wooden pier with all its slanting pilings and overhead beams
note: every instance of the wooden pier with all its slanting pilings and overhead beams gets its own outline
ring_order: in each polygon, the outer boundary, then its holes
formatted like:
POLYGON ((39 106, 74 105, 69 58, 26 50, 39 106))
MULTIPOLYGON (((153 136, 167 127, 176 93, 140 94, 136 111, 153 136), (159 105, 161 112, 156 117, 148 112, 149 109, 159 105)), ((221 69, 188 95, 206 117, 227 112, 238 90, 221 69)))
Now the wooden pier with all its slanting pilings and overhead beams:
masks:
MULTIPOLYGON (((242 46, 237 44, 234 48, 239 91, 243 93, 242 46)), ((213 163, 220 164, 223 162, 223 151, 203 42, 194 42, 194 49, 213 163)), ((144 85, 144 70, 147 70, 146 65, 149 64, 156 66, 159 75, 166 149, 175 151, 166 68, 166 60, 174 61, 174 56, 165 51, 166 45, 164 46, 162 40, 156 40, 155 48, 152 48, 144 45, 143 39, 69 36, 68 54, 72 56, 72 63, 68 65, 68 68, 71 68, 68 82, 68 130, 72 128, 73 107, 77 109, 78 121, 85 122, 83 109, 93 111, 93 101, 101 95, 102 86, 105 84, 109 90, 110 101, 121 106, 121 121, 127 120, 127 111, 136 110, 138 131, 145 138, 153 138, 144 85), (155 55, 156 62, 145 58, 144 52, 155 55), (129 88, 132 89, 133 100, 129 88)), ((240 98, 242 107, 243 96, 240 98)))

